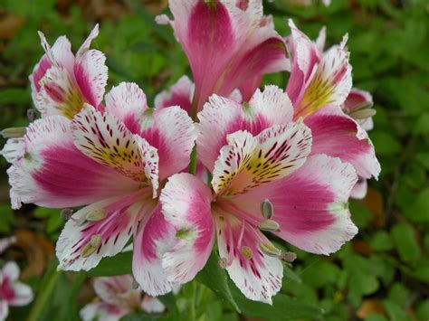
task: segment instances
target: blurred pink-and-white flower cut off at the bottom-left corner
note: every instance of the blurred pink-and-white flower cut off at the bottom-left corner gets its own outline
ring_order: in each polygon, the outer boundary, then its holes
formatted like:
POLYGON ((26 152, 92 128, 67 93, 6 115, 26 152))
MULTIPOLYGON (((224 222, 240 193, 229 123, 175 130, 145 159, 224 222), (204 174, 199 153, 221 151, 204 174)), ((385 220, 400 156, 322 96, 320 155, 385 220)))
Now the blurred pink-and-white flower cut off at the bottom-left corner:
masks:
POLYGON ((9 306, 22 307, 33 301, 33 290, 19 281, 19 267, 9 261, 0 270, 0 320, 9 314, 9 306))

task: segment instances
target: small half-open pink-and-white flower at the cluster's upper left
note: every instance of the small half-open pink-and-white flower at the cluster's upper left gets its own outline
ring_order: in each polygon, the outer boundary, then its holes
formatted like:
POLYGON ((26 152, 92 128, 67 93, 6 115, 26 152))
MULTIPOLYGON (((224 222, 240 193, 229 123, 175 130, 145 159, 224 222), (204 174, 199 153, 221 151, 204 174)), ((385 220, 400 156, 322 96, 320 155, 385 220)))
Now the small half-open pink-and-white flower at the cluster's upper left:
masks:
POLYGON ((104 53, 90 49, 99 34, 97 24, 76 55, 71 43, 61 36, 51 47, 39 33, 45 54, 30 75, 34 106, 43 117, 62 115, 72 118, 85 103, 101 108, 108 79, 104 53))

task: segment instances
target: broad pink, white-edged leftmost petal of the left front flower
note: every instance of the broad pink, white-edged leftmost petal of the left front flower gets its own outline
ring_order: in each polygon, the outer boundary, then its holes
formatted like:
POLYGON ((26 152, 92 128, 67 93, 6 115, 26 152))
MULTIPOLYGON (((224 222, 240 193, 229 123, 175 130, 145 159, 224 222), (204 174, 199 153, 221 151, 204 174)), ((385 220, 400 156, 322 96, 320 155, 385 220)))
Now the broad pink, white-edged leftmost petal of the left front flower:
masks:
POLYGON ((25 156, 7 171, 14 208, 80 206, 138 189, 139 182, 84 156, 73 144, 70 124, 54 116, 27 128, 25 156))

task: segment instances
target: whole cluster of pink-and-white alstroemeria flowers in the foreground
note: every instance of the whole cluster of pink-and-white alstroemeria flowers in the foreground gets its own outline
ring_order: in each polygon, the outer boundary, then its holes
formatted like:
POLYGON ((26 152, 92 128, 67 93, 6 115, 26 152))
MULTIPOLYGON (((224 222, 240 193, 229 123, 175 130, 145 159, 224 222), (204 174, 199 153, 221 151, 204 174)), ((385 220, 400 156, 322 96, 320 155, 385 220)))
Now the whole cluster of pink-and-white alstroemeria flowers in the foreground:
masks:
POLYGON ((323 52, 324 31, 312 42, 290 22, 284 40, 260 0, 169 5, 174 20, 157 21, 173 27, 195 83, 184 76, 155 108, 134 83, 104 95, 97 27, 76 55, 42 36, 30 76, 42 118, 2 151, 12 205, 64 209, 60 269, 92 269, 132 239, 134 278, 156 296, 194 279, 216 243, 243 294, 271 303, 291 260, 271 235, 329 254, 358 232, 348 198, 380 171, 370 97, 352 90, 347 38, 323 52), (291 71, 286 90, 260 90, 277 71, 291 71))

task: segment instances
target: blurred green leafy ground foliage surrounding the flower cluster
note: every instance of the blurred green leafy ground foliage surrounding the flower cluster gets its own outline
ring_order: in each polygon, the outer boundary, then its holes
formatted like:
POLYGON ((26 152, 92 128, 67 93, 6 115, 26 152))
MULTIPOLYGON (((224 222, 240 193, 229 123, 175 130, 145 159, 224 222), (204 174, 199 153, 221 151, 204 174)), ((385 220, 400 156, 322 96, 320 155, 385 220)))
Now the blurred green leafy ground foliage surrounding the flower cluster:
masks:
MULTIPOLYGON (((77 48, 92 26, 100 23, 93 46, 106 52, 111 85, 135 81, 153 102, 184 73, 186 56, 171 30, 157 26, 154 14, 166 12, 166 1, 0 1, 0 127, 28 123, 32 108, 28 75, 43 54, 36 31, 48 41, 67 34, 77 48)), ((275 0, 266 3, 277 30, 286 35, 286 19, 315 38, 328 28, 328 44, 349 34, 354 86, 372 92, 375 129, 370 132, 382 165, 378 182, 371 181, 367 198, 352 202, 353 221, 360 231, 337 254, 318 257, 297 249, 298 260, 285 270, 281 295, 274 306, 246 302, 225 292, 224 272, 205 269, 198 280, 175 297, 163 297, 164 319, 427 320, 429 318, 429 3, 419 0, 275 0), (307 3, 308 5, 302 5, 307 3), (205 285, 203 285, 205 284, 205 285), (243 314, 235 313, 234 297, 243 314), (217 287, 217 288, 216 288, 217 287)), ((266 77, 284 87, 286 74, 266 77)), ((153 105, 153 104, 152 104, 153 105)), ((18 242, 1 260, 17 260, 37 297, 30 307, 13 308, 11 319, 75 320, 91 300, 87 275, 55 271, 53 242, 62 229, 59 211, 24 206, 12 212, 4 159, 0 176, 0 233, 18 242)), ((104 264, 93 274, 111 273, 104 264)), ((215 258, 212 258, 212 263, 215 258)), ((157 316, 136 314, 127 320, 157 316)))

